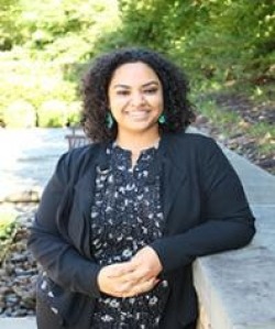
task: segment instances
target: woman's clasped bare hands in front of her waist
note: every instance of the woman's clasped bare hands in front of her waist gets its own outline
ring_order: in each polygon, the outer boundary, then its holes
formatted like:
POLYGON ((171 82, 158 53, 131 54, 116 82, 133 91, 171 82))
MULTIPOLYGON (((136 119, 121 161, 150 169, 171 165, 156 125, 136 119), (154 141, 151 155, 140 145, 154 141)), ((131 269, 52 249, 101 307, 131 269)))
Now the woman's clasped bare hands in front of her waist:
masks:
POLYGON ((100 292, 113 297, 133 297, 153 289, 162 270, 156 252, 144 246, 130 261, 102 267, 98 286, 100 292))

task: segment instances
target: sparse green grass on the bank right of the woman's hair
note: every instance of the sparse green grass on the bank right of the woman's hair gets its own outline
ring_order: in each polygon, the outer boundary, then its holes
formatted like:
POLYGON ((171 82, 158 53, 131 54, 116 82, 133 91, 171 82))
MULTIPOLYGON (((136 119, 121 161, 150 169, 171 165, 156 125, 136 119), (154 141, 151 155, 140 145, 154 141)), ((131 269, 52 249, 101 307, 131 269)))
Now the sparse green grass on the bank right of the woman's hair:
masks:
MULTIPOLYGON (((273 85, 274 86, 274 85, 273 85)), ((274 89, 275 90, 275 89, 274 89)), ((248 86, 243 86, 243 89, 240 90, 240 86, 238 88, 222 90, 210 90, 207 91, 200 90, 200 92, 196 92, 194 95, 195 103, 198 108, 198 112, 201 113, 209 120, 209 123, 212 128, 215 128, 216 132, 226 139, 234 139, 235 136, 243 136, 244 140, 240 139, 240 141, 250 141, 253 145, 255 156, 257 158, 274 158, 275 154, 275 124, 274 122, 268 122, 267 120, 253 120, 248 122, 248 118, 244 119, 242 117, 242 110, 238 111, 238 102, 234 103, 233 108, 217 105, 213 95, 219 95, 219 92, 227 92, 228 97, 230 95, 242 95, 244 99, 249 99, 252 103, 252 108, 249 108, 249 112, 246 111, 245 116, 250 116, 250 111, 256 109, 256 114, 260 117, 262 114, 262 107, 266 106, 271 113, 275 111, 275 92, 272 92, 271 86, 261 87, 260 88, 249 88, 248 86), (256 90, 256 91, 255 91, 256 90), (213 94, 211 94, 211 91, 213 94), (198 96, 199 95, 199 96, 198 96), (202 97, 201 97, 202 95, 202 97), (245 121, 246 120, 246 121, 245 121)), ((242 103, 243 105, 243 103, 242 103)), ((250 105, 250 103, 249 103, 250 105)), ((274 117, 275 118, 275 117, 274 117)), ((271 121, 271 120, 270 120, 271 121)), ((243 152, 246 145, 240 144, 237 145, 240 153, 243 152)), ((246 149, 248 150, 248 149, 246 149)), ((271 173, 275 174, 275 168, 270 168, 271 173)))

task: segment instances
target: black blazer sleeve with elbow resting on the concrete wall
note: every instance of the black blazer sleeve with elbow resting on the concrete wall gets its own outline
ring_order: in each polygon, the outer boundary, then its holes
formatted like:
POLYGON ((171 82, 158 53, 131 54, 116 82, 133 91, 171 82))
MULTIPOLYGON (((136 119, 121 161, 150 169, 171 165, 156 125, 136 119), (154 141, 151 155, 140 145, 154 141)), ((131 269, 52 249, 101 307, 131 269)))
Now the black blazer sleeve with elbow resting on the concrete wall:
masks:
POLYGON ((206 139, 199 154, 200 224, 152 243, 164 273, 185 266, 197 256, 242 248, 255 233, 242 184, 221 149, 206 139))

